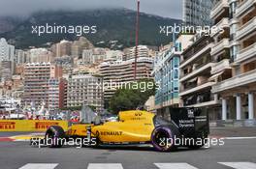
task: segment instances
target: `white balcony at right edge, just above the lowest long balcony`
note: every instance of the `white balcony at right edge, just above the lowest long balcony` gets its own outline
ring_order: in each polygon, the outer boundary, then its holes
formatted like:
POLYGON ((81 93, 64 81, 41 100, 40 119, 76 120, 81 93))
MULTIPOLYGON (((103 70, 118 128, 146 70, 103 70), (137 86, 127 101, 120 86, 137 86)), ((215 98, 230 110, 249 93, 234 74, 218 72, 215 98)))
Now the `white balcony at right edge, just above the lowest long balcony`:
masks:
POLYGON ((240 52, 237 55, 237 58, 235 59, 235 64, 240 64, 243 61, 251 59, 255 56, 256 56, 256 43, 253 43, 252 45, 240 50, 240 52))

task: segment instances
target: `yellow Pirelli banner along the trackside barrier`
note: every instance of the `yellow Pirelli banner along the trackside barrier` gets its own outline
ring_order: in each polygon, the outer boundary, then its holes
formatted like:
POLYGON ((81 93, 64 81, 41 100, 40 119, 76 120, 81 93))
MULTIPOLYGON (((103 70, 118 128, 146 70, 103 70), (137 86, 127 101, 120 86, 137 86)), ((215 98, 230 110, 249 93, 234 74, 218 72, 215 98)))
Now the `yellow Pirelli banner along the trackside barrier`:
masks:
POLYGON ((68 128, 67 121, 0 120, 0 131, 46 131, 50 126, 68 128))

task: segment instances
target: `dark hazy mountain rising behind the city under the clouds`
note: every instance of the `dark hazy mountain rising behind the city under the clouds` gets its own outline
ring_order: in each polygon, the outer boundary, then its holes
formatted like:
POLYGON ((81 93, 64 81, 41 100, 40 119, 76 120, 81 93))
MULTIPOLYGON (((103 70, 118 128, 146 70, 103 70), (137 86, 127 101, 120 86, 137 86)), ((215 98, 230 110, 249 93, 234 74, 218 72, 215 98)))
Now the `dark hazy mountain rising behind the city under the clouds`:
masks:
MULTIPOLYGON (((172 36, 160 34, 160 26, 178 24, 181 20, 157 15, 140 15, 140 43, 160 45, 172 41, 172 36)), ((25 20, 0 19, 0 37, 16 45, 16 48, 42 46, 63 39, 74 41, 75 34, 32 34, 35 26, 96 26, 96 33, 82 35, 96 46, 123 48, 134 45, 136 12, 127 9, 99 9, 90 11, 48 11, 31 14, 25 20), (2 25, 2 26, 1 26, 2 25), (2 33, 2 34, 1 34, 2 33)))

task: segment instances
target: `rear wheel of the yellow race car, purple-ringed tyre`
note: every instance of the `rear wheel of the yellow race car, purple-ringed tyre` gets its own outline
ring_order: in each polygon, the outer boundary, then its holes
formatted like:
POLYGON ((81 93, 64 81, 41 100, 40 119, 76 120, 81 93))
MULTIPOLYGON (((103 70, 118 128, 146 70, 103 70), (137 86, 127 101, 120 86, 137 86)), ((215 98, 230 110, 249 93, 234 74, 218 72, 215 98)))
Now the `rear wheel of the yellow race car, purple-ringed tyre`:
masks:
POLYGON ((175 133, 171 127, 155 127, 151 134, 151 142, 154 148, 160 152, 170 152, 176 149, 175 133))

